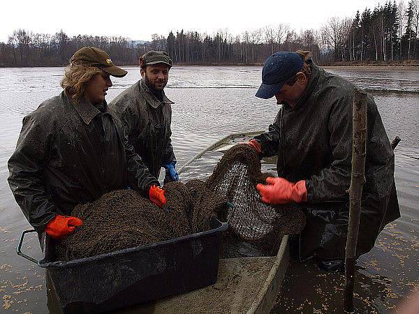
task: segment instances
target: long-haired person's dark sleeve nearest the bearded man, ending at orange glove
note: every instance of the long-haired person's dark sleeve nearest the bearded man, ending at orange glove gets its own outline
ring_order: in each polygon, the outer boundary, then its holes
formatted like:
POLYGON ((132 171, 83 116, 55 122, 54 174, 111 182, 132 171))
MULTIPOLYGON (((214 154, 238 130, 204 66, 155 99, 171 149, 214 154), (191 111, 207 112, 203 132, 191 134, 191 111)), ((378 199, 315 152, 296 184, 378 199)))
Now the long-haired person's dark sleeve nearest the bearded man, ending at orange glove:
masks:
POLYGON ((138 154, 135 154, 133 145, 128 143, 128 135, 124 135, 124 148, 128 172, 128 186, 148 197, 150 186, 160 186, 159 180, 150 174, 148 168, 138 154))

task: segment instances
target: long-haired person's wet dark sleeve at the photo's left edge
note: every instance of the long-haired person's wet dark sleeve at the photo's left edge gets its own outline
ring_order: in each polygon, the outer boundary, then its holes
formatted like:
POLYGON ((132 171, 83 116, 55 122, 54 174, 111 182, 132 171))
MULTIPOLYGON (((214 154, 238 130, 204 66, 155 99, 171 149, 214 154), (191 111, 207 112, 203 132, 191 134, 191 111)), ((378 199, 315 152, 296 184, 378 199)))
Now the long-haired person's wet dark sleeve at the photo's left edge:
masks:
POLYGON ((52 135, 41 122, 36 117, 24 118, 15 152, 8 160, 10 189, 24 216, 38 232, 43 232, 46 223, 55 216, 52 197, 43 179, 52 135))

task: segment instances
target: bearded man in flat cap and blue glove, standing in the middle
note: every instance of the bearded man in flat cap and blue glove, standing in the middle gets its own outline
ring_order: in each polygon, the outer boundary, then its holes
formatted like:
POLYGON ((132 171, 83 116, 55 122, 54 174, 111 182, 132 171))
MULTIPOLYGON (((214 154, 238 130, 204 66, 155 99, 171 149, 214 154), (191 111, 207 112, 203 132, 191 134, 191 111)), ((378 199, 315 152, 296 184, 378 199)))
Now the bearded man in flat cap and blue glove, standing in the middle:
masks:
POLYGON ((161 167, 166 169, 165 183, 179 180, 170 139, 172 101, 164 93, 171 67, 172 59, 166 52, 147 52, 140 57, 141 80, 110 103, 150 174, 159 178, 161 167))

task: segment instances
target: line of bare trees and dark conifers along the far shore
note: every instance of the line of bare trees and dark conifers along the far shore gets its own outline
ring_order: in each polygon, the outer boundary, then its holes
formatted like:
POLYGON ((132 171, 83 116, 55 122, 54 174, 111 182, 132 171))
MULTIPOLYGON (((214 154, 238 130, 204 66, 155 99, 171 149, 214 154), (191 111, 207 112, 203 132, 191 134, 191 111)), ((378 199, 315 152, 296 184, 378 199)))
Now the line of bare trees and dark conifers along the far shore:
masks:
POLYGON ((68 37, 17 29, 0 43, 0 66, 64 66, 80 47, 99 47, 119 65, 136 65, 148 50, 165 50, 174 63, 255 64, 276 51, 309 50, 322 65, 341 61, 406 61, 419 59, 419 0, 405 5, 386 2, 365 8, 352 18, 332 17, 319 29, 297 33, 288 24, 268 25, 233 36, 228 30, 214 35, 197 31, 154 34, 150 42, 121 36, 68 37))

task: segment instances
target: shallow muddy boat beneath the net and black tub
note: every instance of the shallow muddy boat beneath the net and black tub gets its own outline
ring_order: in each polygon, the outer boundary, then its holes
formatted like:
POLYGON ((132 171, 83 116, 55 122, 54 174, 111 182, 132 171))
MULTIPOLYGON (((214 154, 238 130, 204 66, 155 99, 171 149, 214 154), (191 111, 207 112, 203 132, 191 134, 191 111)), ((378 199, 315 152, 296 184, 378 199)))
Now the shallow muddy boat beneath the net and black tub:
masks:
MULTIPOLYGON (((205 171, 208 173, 204 175, 209 175, 212 170, 199 171, 199 165, 206 165, 208 160, 215 165, 224 151, 260 133, 262 131, 233 133, 223 137, 182 165, 179 177, 202 177, 205 171), (200 163, 201 159, 205 162, 200 163)), ((276 158, 262 160, 262 163, 265 169, 276 169, 276 158)), ((136 306, 132 312, 122 313, 270 313, 288 267, 288 237, 286 235, 281 240, 276 256, 221 258, 217 281, 213 285, 136 306)))

